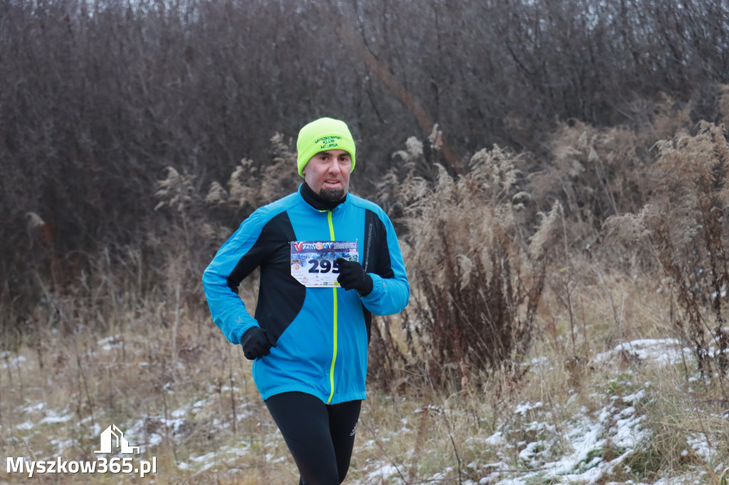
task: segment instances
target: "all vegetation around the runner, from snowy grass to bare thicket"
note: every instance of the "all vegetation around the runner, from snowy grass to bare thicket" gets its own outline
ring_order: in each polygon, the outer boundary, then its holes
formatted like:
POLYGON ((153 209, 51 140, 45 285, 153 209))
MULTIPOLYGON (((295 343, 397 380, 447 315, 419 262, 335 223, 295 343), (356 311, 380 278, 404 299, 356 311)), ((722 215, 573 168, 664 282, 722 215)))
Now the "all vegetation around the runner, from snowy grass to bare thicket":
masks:
POLYGON ((200 275, 336 115, 412 286, 345 483, 725 484, 729 8, 502 3, 5 2, 2 453, 295 483, 200 275))

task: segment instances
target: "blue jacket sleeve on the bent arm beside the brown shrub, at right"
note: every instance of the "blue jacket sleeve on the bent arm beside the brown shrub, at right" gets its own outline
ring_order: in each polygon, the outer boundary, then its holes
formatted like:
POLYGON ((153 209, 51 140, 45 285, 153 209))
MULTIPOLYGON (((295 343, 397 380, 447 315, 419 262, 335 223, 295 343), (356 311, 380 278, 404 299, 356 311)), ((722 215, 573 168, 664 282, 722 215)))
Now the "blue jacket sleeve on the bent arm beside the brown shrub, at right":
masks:
POLYGON ((378 216, 385 227, 383 240, 378 245, 381 253, 378 260, 389 261, 389 267, 384 271, 368 273, 372 277, 373 290, 367 296, 362 296, 362 303, 373 315, 393 315, 408 305, 410 284, 395 229, 384 212, 378 216))

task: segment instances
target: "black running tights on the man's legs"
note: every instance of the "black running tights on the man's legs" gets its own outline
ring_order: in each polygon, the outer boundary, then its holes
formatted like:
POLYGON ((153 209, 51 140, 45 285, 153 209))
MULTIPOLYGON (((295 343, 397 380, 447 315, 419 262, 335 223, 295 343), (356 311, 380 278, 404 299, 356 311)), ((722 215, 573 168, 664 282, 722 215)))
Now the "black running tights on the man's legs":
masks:
POLYGON ((299 468, 299 484, 341 484, 362 401, 327 405, 310 394, 281 393, 265 402, 299 468))

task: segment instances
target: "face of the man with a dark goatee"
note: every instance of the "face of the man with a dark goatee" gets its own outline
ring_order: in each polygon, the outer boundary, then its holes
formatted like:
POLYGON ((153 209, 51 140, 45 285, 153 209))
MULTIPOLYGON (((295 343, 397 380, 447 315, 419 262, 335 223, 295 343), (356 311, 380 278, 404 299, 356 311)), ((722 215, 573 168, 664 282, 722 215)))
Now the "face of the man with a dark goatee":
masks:
POLYGON ((305 165, 304 181, 324 200, 335 202, 349 190, 352 158, 344 150, 319 151, 305 165))

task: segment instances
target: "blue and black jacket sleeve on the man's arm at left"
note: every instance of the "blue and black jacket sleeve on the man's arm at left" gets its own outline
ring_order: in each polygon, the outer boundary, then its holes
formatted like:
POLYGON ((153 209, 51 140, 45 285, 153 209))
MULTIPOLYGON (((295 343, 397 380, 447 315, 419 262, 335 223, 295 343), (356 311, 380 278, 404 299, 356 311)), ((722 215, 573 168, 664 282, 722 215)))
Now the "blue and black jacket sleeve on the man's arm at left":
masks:
POLYGON ((238 284, 260 264, 262 255, 254 248, 265 224, 260 211, 252 213, 218 250, 203 272, 203 289, 215 325, 233 344, 257 321, 238 296, 238 284), (233 273, 235 272, 235 277, 233 273))

